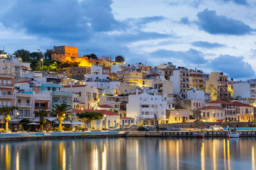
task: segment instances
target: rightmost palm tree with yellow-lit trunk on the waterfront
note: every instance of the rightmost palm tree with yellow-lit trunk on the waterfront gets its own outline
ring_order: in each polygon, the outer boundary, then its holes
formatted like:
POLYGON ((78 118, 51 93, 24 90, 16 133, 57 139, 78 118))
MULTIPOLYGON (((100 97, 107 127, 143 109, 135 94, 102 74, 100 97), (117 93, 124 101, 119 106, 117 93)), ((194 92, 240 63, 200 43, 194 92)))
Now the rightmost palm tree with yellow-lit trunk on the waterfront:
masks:
POLYGON ((72 109, 72 107, 68 104, 54 104, 52 105, 52 110, 51 113, 52 115, 56 115, 58 117, 58 122, 59 122, 59 127, 60 127, 60 131, 62 130, 62 121, 64 120, 65 116, 68 115, 70 113, 69 110, 72 109))

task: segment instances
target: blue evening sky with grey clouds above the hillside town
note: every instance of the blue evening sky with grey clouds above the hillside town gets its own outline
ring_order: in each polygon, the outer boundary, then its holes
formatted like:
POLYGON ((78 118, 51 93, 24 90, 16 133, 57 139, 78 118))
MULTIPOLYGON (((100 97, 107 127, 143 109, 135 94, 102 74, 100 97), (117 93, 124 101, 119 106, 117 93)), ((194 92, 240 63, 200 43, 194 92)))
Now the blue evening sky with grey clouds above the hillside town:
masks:
POLYGON ((255 78, 254 0, 0 0, 0 48, 52 46, 79 55, 221 71, 255 78))

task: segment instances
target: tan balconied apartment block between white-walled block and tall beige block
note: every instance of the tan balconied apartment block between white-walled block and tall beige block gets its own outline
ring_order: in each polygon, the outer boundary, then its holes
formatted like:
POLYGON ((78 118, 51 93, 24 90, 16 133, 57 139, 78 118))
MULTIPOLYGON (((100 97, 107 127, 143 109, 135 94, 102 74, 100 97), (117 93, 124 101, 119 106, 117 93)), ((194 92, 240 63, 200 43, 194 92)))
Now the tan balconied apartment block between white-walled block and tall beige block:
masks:
POLYGON ((193 89, 204 90, 204 73, 200 70, 189 69, 189 86, 193 89))

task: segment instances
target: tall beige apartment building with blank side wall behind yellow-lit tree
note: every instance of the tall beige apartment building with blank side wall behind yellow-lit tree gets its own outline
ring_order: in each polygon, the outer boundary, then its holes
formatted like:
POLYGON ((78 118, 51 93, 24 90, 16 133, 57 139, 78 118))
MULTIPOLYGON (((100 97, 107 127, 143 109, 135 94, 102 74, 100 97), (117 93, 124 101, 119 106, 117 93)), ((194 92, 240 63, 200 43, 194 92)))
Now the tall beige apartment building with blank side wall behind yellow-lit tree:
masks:
POLYGON ((209 74, 209 80, 205 81, 205 92, 211 93, 213 101, 228 99, 228 76, 220 72, 209 74))

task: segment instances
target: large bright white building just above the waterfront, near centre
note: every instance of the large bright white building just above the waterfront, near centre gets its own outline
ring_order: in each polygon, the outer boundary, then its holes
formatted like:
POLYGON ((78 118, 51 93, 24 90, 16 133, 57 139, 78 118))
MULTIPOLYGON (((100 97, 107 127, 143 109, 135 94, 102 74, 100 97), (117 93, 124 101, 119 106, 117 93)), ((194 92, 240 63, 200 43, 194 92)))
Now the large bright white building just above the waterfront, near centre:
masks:
POLYGON ((166 101, 162 101, 161 96, 150 95, 147 92, 136 90, 135 94, 129 95, 129 103, 126 105, 127 117, 138 118, 138 122, 152 124, 156 114, 157 120, 166 119, 166 101))

